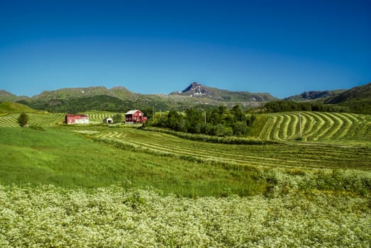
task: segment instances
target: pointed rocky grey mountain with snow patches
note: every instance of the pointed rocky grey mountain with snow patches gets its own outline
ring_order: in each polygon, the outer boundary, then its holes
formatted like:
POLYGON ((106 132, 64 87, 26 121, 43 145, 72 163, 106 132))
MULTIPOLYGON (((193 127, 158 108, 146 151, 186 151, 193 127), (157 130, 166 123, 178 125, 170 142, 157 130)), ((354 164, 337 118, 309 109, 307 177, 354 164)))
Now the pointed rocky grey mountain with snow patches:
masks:
POLYGON ((250 93, 248 91, 227 91, 192 83, 183 91, 172 92, 171 95, 191 96, 198 98, 209 98, 214 101, 223 102, 265 102, 275 101, 277 98, 268 93, 250 93))

